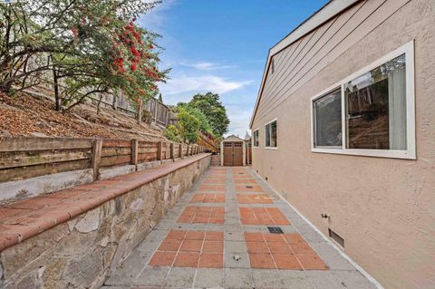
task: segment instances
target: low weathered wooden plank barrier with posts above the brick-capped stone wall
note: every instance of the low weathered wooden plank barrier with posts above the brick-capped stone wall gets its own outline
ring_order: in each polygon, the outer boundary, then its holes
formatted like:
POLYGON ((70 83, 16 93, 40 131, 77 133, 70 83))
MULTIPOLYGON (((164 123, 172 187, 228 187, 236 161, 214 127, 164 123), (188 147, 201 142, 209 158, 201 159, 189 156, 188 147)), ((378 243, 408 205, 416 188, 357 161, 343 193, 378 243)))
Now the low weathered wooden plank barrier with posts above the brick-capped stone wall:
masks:
POLYGON ((76 169, 135 165, 177 159, 206 151, 198 145, 141 140, 96 140, 75 138, 0 138, 0 182, 34 178, 76 169))

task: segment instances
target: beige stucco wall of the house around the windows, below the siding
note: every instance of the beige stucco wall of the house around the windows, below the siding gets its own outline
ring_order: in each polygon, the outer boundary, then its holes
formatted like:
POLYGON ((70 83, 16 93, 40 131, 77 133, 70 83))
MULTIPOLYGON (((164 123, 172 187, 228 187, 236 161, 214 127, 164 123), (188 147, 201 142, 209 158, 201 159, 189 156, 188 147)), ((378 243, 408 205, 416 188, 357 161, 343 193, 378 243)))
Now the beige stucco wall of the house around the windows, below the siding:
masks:
POLYGON ((401 6, 260 116, 253 169, 272 188, 325 235, 343 236, 344 252, 386 288, 435 288, 435 1, 401 6), (310 98, 412 39, 417 160, 312 152, 310 98), (275 118, 278 149, 264 149, 275 118))

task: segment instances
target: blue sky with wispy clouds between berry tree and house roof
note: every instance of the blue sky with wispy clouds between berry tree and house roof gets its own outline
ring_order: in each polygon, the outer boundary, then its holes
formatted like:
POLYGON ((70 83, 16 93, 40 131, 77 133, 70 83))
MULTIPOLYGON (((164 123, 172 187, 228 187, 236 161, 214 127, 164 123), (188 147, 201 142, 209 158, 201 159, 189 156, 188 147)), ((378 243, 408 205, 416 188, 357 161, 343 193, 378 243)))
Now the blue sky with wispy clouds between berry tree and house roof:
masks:
POLYGON ((328 0, 163 0, 140 24, 162 35, 163 101, 189 101, 217 92, 231 120, 228 134, 244 137, 271 46, 328 0))

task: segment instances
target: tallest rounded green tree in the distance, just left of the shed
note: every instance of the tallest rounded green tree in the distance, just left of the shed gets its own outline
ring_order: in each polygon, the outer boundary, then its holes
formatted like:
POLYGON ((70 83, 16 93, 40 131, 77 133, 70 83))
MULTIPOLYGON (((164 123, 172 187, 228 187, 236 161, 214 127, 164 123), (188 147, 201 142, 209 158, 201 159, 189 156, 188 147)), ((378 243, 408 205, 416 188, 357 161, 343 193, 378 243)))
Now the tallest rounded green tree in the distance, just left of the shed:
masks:
POLYGON ((219 101, 217 93, 196 94, 189 101, 189 106, 197 108, 204 113, 217 137, 222 137, 228 131, 229 119, 227 117, 227 110, 222 105, 222 102, 219 101))

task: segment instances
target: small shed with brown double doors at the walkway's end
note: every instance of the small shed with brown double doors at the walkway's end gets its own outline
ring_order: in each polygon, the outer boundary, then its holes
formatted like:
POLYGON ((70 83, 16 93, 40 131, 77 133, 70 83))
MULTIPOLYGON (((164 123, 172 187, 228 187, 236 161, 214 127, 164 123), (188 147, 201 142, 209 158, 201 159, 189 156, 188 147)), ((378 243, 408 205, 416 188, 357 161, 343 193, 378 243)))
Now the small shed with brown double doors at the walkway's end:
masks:
POLYGON ((230 135, 220 143, 222 166, 246 166, 246 141, 230 135))

